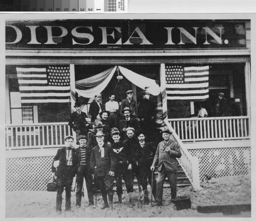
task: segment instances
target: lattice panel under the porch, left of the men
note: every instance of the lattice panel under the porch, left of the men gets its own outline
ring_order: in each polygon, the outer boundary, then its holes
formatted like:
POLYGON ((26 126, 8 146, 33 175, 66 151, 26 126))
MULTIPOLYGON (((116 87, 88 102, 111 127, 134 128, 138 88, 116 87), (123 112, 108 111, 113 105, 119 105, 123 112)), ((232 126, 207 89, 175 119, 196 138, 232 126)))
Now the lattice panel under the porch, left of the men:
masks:
POLYGON ((44 191, 53 156, 6 159, 6 191, 44 191))

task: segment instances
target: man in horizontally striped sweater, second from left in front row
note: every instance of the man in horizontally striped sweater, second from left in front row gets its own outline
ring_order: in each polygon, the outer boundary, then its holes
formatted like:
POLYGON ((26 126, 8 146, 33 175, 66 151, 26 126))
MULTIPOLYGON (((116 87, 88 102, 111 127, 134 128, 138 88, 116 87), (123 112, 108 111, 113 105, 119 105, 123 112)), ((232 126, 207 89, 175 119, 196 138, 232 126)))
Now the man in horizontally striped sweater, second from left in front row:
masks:
POLYGON ((92 206, 94 205, 92 187, 92 180, 94 175, 90 165, 91 150, 88 146, 86 146, 86 142, 88 140, 87 136, 80 135, 77 139, 79 142, 79 147, 75 150, 78 159, 78 168, 76 171, 76 206, 81 207, 83 178, 86 180, 89 206, 92 206))

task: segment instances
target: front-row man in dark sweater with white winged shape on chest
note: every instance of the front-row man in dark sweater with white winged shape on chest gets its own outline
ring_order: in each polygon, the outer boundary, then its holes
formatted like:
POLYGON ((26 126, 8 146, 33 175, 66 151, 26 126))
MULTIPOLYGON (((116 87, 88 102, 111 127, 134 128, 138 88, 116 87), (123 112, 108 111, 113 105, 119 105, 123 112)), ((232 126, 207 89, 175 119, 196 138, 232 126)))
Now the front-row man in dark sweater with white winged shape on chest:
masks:
POLYGON ((125 143, 120 142, 120 132, 117 128, 112 128, 111 136, 113 143, 111 147, 115 152, 116 156, 116 167, 115 167, 115 179, 118 195, 118 203, 122 203, 122 178, 125 182, 127 193, 133 192, 133 183, 132 183, 132 162, 131 162, 131 151, 128 149, 128 146, 125 143))

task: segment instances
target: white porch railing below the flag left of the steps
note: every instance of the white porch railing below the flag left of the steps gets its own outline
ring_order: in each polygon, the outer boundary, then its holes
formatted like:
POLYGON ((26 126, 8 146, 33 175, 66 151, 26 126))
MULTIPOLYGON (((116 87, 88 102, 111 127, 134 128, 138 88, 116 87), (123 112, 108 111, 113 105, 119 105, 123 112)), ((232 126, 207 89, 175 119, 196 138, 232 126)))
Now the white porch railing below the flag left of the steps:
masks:
POLYGON ((6 126, 6 150, 42 149, 63 146, 63 138, 72 135, 67 122, 6 126))

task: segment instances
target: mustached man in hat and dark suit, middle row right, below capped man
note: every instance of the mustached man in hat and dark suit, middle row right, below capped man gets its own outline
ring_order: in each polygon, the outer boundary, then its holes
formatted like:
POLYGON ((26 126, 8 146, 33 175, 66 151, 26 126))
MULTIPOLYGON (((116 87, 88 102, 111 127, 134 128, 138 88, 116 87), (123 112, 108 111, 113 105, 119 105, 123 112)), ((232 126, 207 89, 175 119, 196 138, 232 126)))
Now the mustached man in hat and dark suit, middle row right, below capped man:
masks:
POLYGON ((121 140, 125 140, 127 138, 125 132, 126 129, 131 127, 135 131, 140 129, 140 124, 137 118, 131 117, 131 109, 129 107, 125 107, 123 109, 124 119, 119 122, 119 130, 121 133, 121 140))

